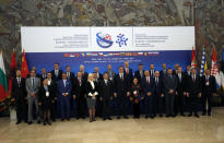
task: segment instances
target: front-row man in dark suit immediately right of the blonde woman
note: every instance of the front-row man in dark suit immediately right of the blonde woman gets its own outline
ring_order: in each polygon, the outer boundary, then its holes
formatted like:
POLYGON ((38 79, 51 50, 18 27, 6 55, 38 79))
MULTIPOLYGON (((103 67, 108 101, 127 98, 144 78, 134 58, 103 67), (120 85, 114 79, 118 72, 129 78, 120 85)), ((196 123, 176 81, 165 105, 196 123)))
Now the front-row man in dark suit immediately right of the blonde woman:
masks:
POLYGON ((104 80, 99 82, 99 96, 103 102, 103 119, 111 120, 109 104, 113 99, 113 83, 109 81, 107 72, 104 73, 104 80))

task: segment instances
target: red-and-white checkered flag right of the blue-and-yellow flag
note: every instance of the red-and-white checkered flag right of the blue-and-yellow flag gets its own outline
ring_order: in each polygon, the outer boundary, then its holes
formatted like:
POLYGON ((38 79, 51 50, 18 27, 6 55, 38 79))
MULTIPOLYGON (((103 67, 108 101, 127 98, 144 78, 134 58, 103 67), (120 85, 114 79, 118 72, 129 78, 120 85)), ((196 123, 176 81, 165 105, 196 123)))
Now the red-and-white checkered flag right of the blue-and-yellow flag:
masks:
POLYGON ((220 87, 219 84, 219 67, 217 67, 217 61, 216 61, 216 52, 215 52, 215 47, 213 47, 213 51, 212 51, 212 70, 211 70, 211 74, 213 76, 215 76, 216 79, 216 83, 217 83, 217 87, 220 87))

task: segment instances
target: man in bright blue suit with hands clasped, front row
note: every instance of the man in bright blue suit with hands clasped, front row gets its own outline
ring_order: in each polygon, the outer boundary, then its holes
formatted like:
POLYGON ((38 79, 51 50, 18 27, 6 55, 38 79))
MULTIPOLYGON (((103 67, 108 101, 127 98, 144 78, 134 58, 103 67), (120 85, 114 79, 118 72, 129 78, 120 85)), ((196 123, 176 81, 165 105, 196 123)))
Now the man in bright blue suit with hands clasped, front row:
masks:
POLYGON ((60 96, 61 121, 70 120, 71 82, 67 80, 67 73, 62 73, 62 80, 58 81, 58 94, 60 96))

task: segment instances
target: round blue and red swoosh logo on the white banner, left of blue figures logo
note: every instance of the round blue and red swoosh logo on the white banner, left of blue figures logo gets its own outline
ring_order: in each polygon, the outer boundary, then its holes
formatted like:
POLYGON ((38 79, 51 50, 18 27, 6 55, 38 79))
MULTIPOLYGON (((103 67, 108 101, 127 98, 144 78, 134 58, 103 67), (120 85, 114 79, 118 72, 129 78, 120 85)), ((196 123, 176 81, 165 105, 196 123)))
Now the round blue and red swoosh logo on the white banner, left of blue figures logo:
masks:
POLYGON ((113 45, 111 36, 109 34, 97 33, 96 43, 102 48, 109 48, 113 45))

